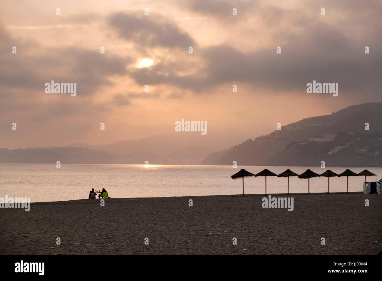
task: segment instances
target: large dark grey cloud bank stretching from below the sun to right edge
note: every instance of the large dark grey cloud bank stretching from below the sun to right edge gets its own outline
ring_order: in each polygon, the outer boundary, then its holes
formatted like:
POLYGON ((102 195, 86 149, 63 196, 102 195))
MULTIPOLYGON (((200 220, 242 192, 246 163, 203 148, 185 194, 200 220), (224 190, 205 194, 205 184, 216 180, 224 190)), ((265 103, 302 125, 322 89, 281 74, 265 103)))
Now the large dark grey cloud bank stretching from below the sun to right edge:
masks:
MULTIPOLYGON (((382 43, 380 36, 359 41, 328 23, 300 24, 301 32, 283 35, 286 43, 280 46, 282 54, 276 54, 277 45, 244 53, 221 44, 199 50, 199 58, 206 67, 193 75, 180 76, 173 66, 168 68, 160 63, 131 70, 130 75, 139 84, 146 81, 173 84, 194 93, 207 92, 224 83, 249 84, 254 91, 259 87, 306 93, 306 83, 316 80, 339 83, 340 91, 367 92, 370 97, 380 95, 382 54, 377 51, 382 43), (364 53, 366 45, 371 48, 370 54, 364 53)), ((375 34, 380 33, 380 29, 375 30, 375 34)))

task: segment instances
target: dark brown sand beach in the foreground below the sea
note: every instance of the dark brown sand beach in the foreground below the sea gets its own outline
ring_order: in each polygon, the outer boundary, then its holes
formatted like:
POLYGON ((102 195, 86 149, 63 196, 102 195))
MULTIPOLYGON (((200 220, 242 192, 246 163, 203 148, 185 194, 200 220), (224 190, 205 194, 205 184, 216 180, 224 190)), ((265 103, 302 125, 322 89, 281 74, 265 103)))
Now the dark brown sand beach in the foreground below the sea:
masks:
POLYGON ((32 203, 29 212, 0 209, 0 253, 376 255, 382 250, 382 195, 294 194, 293 211, 262 208, 262 197, 110 198, 104 207, 92 199, 32 203))

